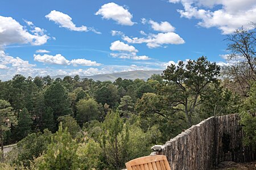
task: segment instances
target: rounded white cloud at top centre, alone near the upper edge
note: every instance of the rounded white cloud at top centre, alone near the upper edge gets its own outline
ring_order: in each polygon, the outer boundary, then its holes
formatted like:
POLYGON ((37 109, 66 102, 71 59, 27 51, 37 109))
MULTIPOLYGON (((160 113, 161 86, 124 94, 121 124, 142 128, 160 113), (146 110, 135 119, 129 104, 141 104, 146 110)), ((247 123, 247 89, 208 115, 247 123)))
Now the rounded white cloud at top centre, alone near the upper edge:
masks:
POLYGON ((96 12, 95 15, 101 15, 104 19, 113 19, 121 25, 133 25, 131 21, 133 15, 124 7, 114 2, 106 3, 96 12))

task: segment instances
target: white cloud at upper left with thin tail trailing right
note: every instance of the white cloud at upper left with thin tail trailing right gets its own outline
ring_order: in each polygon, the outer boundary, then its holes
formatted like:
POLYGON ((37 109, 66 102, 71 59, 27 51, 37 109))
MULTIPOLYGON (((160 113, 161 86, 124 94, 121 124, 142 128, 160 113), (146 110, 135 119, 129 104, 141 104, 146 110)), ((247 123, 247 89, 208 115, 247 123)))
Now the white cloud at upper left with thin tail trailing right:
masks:
POLYGON ((72 18, 69 15, 64 14, 60 11, 53 10, 46 15, 46 18, 55 22, 56 24, 59 24, 60 27, 67 28, 71 31, 93 31, 95 33, 101 33, 97 32, 94 28, 88 28, 85 25, 82 25, 81 27, 76 27, 76 24, 72 22, 72 18))

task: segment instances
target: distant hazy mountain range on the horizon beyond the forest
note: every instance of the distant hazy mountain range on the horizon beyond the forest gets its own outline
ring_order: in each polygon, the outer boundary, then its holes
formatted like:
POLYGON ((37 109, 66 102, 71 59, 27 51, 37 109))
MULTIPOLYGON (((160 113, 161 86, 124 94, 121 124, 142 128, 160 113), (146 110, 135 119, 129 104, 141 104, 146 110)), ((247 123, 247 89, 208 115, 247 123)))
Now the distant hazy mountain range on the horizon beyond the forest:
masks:
MULTIPOLYGON (((81 79, 88 78, 93 80, 100 80, 100 81, 112 81, 114 82, 117 78, 122 79, 143 79, 147 80, 150 78, 152 74, 162 74, 163 70, 136 70, 136 71, 124 71, 120 73, 110 73, 110 74, 98 74, 98 75, 91 75, 91 76, 80 76, 81 79)), ((53 76, 52 78, 61 78, 63 79, 65 75, 57 75, 53 76)))

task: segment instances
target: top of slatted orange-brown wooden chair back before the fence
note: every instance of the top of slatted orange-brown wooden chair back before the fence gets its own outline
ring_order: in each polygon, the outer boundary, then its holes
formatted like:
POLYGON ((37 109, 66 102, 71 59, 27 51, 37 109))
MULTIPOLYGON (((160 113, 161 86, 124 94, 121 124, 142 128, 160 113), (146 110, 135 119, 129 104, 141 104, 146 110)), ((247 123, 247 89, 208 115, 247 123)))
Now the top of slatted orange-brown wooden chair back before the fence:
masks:
POLYGON ((166 156, 144 156, 127 162, 127 170, 171 170, 166 156))

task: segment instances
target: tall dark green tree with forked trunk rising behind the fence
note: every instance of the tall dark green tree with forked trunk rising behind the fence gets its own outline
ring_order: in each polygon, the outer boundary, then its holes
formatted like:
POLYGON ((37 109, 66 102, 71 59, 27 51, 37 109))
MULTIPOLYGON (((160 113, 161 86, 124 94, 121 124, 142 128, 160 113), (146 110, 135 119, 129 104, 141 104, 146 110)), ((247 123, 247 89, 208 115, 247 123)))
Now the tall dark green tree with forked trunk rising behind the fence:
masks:
POLYGON ((163 92, 167 94, 161 95, 168 96, 168 103, 173 110, 185 113, 191 126, 195 109, 200 105, 200 95, 208 90, 210 83, 218 83, 218 75, 220 66, 207 61, 204 56, 187 63, 179 61, 177 65, 171 64, 163 71, 162 76, 166 80, 163 92))

